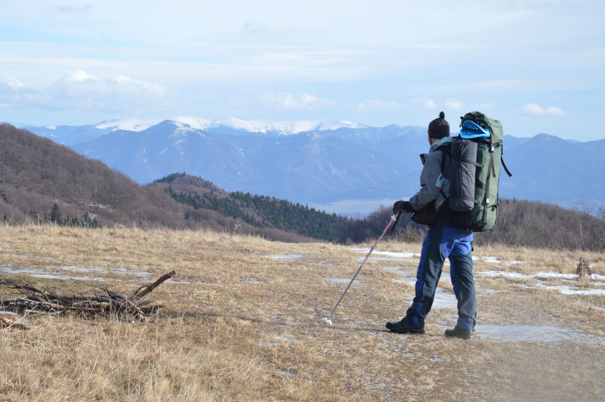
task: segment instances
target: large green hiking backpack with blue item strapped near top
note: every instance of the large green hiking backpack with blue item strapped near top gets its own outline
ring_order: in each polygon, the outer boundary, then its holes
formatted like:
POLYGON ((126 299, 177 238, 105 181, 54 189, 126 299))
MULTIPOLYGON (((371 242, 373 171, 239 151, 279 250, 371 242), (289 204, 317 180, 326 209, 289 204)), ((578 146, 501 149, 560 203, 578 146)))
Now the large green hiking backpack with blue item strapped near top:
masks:
POLYGON ((469 112, 460 119, 459 137, 442 150, 451 156, 449 186, 445 186, 449 195, 443 187, 442 195, 456 226, 471 232, 492 230, 499 205, 500 168, 512 176, 502 159, 502 123, 481 112, 469 112))

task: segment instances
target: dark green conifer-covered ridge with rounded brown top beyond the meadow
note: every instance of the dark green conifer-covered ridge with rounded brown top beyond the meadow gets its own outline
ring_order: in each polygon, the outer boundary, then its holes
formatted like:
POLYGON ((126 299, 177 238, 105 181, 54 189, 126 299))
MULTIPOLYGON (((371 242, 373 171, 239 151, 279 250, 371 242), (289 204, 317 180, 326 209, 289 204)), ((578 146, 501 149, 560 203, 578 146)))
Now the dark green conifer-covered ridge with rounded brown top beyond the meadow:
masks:
POLYGON ((243 192, 226 192, 202 178, 174 173, 155 180, 179 203, 209 209, 238 218, 258 228, 275 228, 316 239, 342 242, 347 239, 347 218, 291 203, 284 199, 243 192))

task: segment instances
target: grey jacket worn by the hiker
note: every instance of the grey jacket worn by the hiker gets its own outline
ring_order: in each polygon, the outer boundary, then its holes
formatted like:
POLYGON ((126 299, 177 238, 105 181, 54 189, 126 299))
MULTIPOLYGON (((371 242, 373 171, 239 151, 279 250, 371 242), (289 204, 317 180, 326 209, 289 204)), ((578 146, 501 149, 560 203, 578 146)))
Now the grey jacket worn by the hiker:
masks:
MULTIPOLYGON (((440 197, 441 189, 443 187, 443 177, 441 175, 443 151, 437 151, 437 148, 451 140, 451 137, 442 138, 431 145, 428 154, 420 155, 420 160, 422 160, 422 163, 424 164, 422 173, 420 173, 420 190, 410 197, 410 204, 415 210, 424 208, 428 203, 435 201, 440 197)), ((449 169, 450 163, 449 158, 446 158, 446 163, 443 168, 444 172, 449 169)), ((441 203, 439 203, 439 206, 440 204, 441 203)), ((436 207, 438 208, 439 206, 436 207)))

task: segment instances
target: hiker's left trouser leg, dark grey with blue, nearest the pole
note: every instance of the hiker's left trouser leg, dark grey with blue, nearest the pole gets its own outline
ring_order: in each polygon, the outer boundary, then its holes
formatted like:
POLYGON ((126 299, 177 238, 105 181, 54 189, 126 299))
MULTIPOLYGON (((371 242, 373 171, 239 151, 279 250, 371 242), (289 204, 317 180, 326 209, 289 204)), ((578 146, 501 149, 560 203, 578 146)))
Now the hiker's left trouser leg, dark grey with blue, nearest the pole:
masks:
POLYGON ((422 253, 416 273, 416 295, 405 315, 407 322, 413 326, 424 326, 424 320, 433 306, 437 282, 445 261, 441 252, 442 235, 443 225, 436 222, 428 230, 422 243, 422 253))

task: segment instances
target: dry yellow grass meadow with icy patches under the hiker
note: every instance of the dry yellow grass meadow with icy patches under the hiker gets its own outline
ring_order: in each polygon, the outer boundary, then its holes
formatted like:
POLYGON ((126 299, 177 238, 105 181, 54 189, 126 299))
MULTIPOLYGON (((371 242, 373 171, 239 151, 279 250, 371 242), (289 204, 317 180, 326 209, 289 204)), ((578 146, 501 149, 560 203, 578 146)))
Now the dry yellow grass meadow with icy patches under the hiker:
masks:
POLYGON ((605 399, 603 254, 477 247, 477 331, 463 341, 443 337, 456 322, 447 265, 427 334, 384 327, 405 314, 420 250, 388 239, 334 325, 322 322, 363 247, 4 226, 0 278, 71 293, 177 277, 154 291, 168 305, 146 323, 31 313, 28 331, 0 329, 0 400, 605 399), (580 256, 597 275, 575 277, 580 256))

